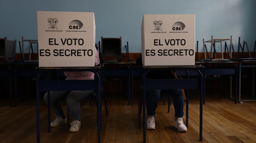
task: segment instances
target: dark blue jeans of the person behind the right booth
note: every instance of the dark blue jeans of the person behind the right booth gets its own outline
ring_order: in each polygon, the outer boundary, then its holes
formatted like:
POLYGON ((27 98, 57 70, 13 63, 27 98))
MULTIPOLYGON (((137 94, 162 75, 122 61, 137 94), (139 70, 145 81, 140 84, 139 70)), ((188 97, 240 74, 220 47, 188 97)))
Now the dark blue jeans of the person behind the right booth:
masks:
POLYGON ((156 90, 147 90, 148 100, 147 100, 147 114, 148 117, 155 116, 155 110, 158 105, 160 98, 160 93, 164 92, 170 95, 173 99, 173 107, 175 110, 175 117, 183 117, 184 112, 184 99, 181 89, 156 89, 156 90))

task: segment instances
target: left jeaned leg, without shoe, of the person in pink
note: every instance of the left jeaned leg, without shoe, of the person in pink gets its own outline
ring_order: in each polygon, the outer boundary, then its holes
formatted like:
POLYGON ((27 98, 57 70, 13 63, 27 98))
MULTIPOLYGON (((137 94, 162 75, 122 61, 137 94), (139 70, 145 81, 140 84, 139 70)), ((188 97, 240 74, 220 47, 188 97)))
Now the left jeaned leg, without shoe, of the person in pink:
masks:
MULTIPOLYGON (((59 99, 67 95, 69 91, 50 91, 50 107, 56 113, 57 117, 63 117, 64 112, 59 103, 59 99)), ((47 92, 44 95, 44 101, 48 104, 47 92)))

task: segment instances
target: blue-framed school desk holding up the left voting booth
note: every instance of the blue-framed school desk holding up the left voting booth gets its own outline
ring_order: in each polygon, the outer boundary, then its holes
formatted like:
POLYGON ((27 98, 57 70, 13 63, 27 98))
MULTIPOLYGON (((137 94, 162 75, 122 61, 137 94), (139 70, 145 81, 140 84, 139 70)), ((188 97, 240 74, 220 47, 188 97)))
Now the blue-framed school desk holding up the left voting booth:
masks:
MULTIPOLYGON (((101 69, 102 66, 94 67, 39 67, 40 70, 36 78, 36 122, 37 122, 37 142, 40 142, 40 110, 39 92, 40 91, 72 91, 72 90, 97 90, 97 124, 98 124, 98 143, 100 143, 101 131, 101 69), (50 72, 76 72, 89 71, 95 74, 94 80, 40 80, 44 73, 50 72), (85 86, 86 85, 86 86, 85 86)), ((49 104, 48 94, 48 105, 49 104)), ((50 107, 48 106, 48 132, 50 131, 50 107)))

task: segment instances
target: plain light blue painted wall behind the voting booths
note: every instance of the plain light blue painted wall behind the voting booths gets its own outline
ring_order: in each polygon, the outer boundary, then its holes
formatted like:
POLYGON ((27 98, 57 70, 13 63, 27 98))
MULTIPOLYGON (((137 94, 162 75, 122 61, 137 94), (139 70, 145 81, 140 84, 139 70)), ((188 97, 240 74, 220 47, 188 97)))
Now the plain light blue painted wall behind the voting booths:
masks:
MULTIPOLYGON (((96 42, 103 37, 122 36, 129 52, 141 52, 143 14, 195 14, 195 40, 202 49, 202 39, 229 38, 234 47, 238 38, 253 50, 256 40, 255 0, 8 0, 0 5, 0 37, 10 40, 37 39, 36 11, 94 12, 96 42)), ((19 52, 17 43, 17 52, 19 52)), ((28 47, 25 47, 28 51, 28 47)))

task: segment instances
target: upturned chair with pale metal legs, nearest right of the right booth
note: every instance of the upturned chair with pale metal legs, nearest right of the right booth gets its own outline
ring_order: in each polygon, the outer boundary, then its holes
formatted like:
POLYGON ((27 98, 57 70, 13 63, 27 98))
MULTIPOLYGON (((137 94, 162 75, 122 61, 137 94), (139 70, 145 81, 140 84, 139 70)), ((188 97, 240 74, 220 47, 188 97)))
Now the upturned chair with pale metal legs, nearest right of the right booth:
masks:
POLYGON ((230 61, 232 59, 232 36, 230 36, 230 38, 227 38, 227 39, 214 39, 213 36, 211 36, 211 40, 204 41, 203 39, 203 44, 204 44, 203 46, 204 46, 205 60, 230 61), (223 49, 222 43, 226 41, 230 41, 229 48, 228 46, 224 46, 224 49, 223 49), (206 43, 211 43, 211 52, 209 51, 209 49, 207 49, 206 43), (217 43, 220 43, 220 48, 217 48, 218 46, 217 43), (219 57, 219 55, 217 54, 217 49, 220 49, 221 57, 219 57), (208 51, 210 52, 210 55, 208 51), (226 58, 226 51, 228 54, 228 58, 226 58))

